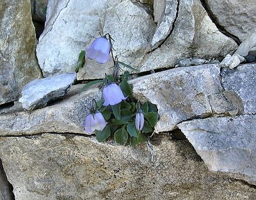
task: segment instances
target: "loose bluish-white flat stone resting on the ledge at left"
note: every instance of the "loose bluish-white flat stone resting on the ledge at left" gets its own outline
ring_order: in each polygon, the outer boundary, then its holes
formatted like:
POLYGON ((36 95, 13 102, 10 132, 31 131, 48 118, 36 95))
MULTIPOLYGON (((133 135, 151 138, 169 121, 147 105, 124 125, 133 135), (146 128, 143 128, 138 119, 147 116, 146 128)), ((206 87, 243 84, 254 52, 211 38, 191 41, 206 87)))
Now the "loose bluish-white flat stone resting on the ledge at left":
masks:
POLYGON ((75 79, 76 72, 72 72, 31 81, 22 90, 19 102, 28 111, 45 106, 48 102, 66 95, 75 79))

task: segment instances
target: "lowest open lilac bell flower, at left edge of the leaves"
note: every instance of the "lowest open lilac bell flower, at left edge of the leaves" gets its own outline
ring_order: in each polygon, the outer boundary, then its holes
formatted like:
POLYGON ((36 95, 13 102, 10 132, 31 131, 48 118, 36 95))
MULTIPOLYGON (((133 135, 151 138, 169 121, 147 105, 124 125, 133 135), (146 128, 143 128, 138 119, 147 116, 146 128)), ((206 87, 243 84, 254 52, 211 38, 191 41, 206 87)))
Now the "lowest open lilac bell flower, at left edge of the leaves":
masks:
POLYGON ((84 119, 83 126, 87 132, 92 134, 95 130, 103 130, 108 123, 99 111, 90 113, 84 119))

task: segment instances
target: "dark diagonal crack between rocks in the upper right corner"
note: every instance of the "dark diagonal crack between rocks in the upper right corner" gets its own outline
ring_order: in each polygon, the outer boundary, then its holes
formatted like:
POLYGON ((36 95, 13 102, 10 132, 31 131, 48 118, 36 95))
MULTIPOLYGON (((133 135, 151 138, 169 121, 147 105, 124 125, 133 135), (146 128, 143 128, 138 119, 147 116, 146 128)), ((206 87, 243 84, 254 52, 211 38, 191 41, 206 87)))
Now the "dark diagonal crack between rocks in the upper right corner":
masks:
POLYGON ((204 7, 205 11, 207 12, 208 16, 210 17, 210 19, 212 20, 212 22, 217 27, 217 29, 221 33, 223 33, 223 35, 225 35, 228 38, 231 38, 232 40, 234 40, 237 43, 237 45, 240 45, 242 43, 241 40, 237 36, 233 35, 232 33, 229 33, 227 31, 227 29, 225 29, 225 27, 220 24, 220 22, 218 20, 218 17, 216 17, 216 15, 214 15, 214 13, 212 12, 212 10, 211 10, 209 4, 207 3, 207 1, 206 0, 200 0, 200 2, 202 4, 202 6, 204 7))

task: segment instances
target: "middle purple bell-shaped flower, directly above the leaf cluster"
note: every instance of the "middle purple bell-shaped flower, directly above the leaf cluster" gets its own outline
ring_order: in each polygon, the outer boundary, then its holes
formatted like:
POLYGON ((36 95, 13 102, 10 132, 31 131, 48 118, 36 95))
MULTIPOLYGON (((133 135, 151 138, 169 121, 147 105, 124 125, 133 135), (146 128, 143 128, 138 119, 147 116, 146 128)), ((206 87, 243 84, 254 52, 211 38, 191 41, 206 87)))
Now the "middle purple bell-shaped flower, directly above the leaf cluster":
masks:
POLYGON ((127 98, 124 97, 121 88, 115 83, 111 83, 105 86, 105 88, 102 91, 102 95, 104 98, 104 106, 116 105, 127 98))

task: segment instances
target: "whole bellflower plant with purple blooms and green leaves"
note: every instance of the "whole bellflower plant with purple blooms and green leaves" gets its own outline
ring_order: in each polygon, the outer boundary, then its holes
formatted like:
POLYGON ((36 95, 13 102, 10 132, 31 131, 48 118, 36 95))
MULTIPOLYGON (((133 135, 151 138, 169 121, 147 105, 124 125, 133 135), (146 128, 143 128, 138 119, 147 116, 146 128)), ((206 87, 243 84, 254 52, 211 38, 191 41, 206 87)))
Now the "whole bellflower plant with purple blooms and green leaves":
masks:
MULTIPOLYGON (((154 132, 154 126, 158 121, 157 108, 150 102, 141 104, 132 96, 132 87, 128 82, 130 73, 125 71, 120 75, 122 65, 130 70, 131 66, 118 61, 113 56, 113 39, 109 34, 96 38, 90 47, 82 50, 77 61, 76 72, 84 66, 85 56, 88 59, 104 64, 109 59, 113 60, 113 73, 105 75, 102 80, 88 82, 82 91, 94 84, 100 84, 102 98, 97 102, 93 100, 92 108, 88 109, 83 126, 89 133, 95 133, 96 139, 103 142, 111 135, 115 142, 121 145, 129 142, 131 146, 138 143, 150 142, 147 134, 154 132), (111 56, 109 56, 111 54, 111 56)), ((152 146, 150 146, 152 150, 152 146)))

